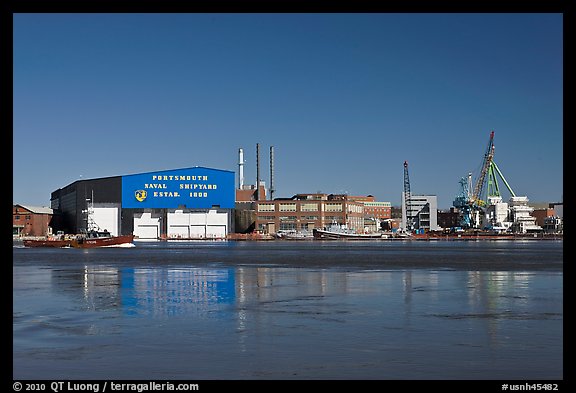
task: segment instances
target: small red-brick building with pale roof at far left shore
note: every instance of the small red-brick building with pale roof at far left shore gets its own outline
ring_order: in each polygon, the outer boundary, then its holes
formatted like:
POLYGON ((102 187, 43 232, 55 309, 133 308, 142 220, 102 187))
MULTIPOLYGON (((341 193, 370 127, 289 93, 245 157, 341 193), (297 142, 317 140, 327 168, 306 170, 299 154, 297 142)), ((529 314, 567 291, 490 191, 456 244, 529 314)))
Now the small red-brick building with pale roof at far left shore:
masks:
POLYGON ((56 219, 45 206, 12 205, 12 236, 47 236, 56 219))

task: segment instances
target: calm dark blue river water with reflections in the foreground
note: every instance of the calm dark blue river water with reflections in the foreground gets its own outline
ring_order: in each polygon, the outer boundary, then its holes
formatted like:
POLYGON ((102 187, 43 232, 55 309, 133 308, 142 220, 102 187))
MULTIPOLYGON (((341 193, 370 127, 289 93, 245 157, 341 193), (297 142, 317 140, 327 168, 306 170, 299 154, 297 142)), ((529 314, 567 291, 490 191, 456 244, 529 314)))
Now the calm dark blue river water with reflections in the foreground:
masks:
POLYGON ((563 378, 562 241, 13 248, 15 379, 563 378))

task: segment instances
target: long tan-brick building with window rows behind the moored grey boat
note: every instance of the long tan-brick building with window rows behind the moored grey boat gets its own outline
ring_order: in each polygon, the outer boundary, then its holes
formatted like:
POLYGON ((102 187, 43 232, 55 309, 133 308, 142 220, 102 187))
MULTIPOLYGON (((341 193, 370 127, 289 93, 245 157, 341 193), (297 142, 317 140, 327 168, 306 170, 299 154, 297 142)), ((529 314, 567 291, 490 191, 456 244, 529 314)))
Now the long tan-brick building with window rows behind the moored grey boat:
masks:
POLYGON ((310 231, 331 224, 364 232, 364 205, 344 194, 296 194, 255 202, 255 229, 262 233, 310 231))

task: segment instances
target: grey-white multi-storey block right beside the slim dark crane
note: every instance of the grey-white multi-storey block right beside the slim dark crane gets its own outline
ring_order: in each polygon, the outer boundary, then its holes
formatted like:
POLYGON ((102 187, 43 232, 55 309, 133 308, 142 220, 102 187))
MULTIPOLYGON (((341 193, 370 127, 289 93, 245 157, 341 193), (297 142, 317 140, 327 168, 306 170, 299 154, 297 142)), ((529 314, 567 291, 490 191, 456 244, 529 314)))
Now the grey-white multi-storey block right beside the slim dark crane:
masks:
POLYGON ((424 231, 438 231, 441 228, 438 226, 438 202, 436 195, 414 195, 411 194, 406 198, 406 194, 402 192, 402 223, 400 228, 404 231, 407 230, 406 217, 412 218, 413 229, 420 229, 424 231), (406 200, 410 202, 410 206, 406 206, 406 200))

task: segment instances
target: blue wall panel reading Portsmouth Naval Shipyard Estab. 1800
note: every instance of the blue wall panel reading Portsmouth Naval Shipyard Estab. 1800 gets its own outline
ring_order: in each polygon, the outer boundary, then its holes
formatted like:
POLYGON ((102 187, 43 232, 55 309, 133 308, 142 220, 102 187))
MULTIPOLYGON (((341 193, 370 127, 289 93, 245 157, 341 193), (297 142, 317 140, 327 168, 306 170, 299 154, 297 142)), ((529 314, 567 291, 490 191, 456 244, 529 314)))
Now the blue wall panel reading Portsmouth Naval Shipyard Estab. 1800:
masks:
POLYGON ((129 209, 234 208, 234 172, 203 167, 122 176, 129 209))

